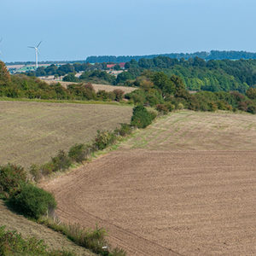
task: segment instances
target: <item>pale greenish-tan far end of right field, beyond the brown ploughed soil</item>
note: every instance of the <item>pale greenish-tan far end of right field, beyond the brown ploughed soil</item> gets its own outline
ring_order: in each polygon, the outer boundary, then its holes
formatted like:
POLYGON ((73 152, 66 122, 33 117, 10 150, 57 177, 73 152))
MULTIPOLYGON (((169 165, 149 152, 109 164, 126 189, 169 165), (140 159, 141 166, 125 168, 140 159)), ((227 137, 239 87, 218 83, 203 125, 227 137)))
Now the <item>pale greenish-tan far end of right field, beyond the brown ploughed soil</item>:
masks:
POLYGON ((160 150, 254 150, 256 115, 179 111, 138 131, 125 148, 160 150))

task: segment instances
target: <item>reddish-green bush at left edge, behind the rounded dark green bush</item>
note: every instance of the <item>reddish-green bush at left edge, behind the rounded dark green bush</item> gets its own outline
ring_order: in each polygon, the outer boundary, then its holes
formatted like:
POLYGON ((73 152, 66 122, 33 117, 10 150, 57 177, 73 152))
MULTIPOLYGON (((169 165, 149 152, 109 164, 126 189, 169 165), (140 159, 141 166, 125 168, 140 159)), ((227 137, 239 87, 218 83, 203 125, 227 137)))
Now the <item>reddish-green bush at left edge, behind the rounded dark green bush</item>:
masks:
POLYGON ((23 167, 8 164, 0 166, 0 193, 12 195, 26 182, 26 172, 23 167))

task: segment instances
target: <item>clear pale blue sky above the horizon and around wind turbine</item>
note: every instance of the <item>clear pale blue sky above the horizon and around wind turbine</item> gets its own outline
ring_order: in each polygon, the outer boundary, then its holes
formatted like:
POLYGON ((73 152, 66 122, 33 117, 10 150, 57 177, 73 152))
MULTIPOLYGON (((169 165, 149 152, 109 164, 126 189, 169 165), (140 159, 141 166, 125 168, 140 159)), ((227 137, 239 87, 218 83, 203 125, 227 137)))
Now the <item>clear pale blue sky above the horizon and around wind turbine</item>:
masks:
POLYGON ((0 0, 3 61, 256 52, 255 0, 0 0))

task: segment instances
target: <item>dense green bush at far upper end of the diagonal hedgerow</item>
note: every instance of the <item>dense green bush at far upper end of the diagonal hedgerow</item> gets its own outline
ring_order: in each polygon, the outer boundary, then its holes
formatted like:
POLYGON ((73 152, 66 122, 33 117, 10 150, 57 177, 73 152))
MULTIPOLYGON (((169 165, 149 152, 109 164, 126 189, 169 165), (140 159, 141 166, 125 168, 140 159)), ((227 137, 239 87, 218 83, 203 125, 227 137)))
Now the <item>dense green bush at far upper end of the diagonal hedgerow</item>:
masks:
POLYGON ((142 105, 133 108, 131 125, 137 128, 145 128, 152 123, 152 116, 142 105))

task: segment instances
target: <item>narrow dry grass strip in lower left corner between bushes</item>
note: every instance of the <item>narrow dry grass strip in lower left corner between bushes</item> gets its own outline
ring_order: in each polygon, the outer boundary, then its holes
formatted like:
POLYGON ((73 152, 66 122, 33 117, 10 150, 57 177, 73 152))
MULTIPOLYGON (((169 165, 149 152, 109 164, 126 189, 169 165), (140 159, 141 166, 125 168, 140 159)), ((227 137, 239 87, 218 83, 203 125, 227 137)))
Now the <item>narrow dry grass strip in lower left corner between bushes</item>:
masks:
POLYGON ((17 230, 24 237, 36 236, 38 239, 43 239, 51 249, 65 249, 84 256, 96 255, 69 241, 66 236, 9 211, 0 200, 0 226, 3 225, 6 226, 6 230, 17 230))

